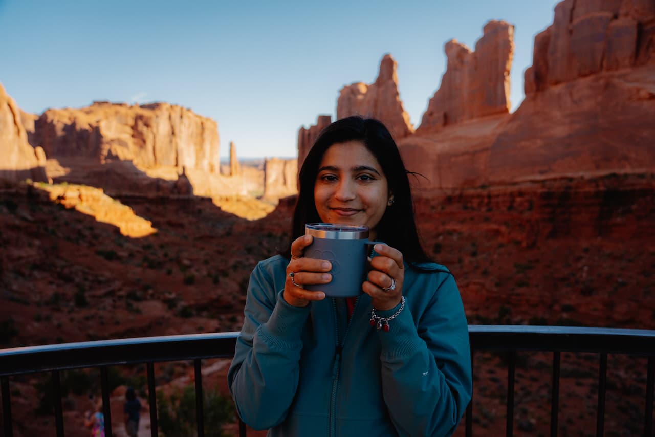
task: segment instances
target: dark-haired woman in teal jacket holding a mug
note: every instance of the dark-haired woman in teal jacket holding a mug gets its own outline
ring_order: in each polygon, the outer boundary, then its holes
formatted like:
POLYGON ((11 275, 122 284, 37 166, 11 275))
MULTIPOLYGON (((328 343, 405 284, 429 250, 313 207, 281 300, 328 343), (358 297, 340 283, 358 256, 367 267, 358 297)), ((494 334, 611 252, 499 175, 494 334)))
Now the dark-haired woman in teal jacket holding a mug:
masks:
POLYGON ((240 417, 271 436, 445 436, 471 398, 468 326, 453 276, 421 248, 396 143, 348 117, 299 175, 290 250, 250 276, 228 380, 240 417), (377 256, 356 299, 326 299, 329 262, 305 223, 366 225, 377 256), (291 274, 292 273, 292 274, 291 274), (378 321, 386 329, 371 326, 378 321))

